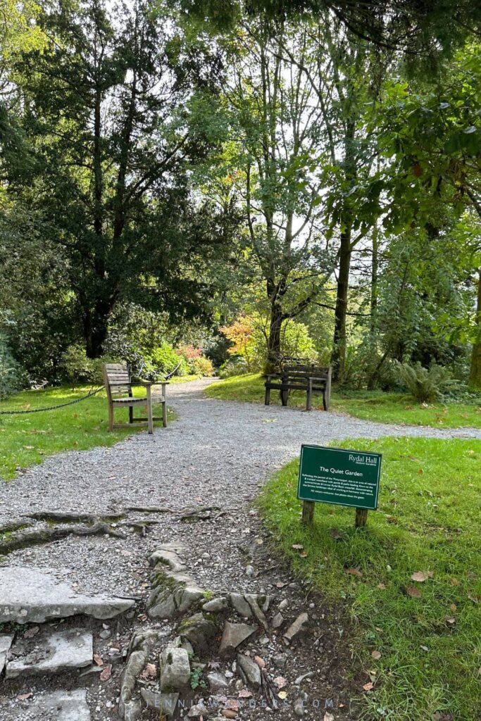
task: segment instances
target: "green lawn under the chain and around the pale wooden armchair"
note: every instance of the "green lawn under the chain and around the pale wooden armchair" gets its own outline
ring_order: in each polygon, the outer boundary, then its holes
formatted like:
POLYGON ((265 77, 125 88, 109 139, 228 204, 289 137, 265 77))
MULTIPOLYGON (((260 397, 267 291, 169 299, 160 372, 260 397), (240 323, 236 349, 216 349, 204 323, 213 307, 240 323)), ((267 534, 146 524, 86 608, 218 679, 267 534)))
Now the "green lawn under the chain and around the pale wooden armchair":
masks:
MULTIPOLYGON (((24 391, 0 402, 0 410, 28 410, 65 403, 89 392, 90 386, 75 391, 54 388, 44 391, 24 391)), ((143 389, 135 389, 142 395, 143 389)), ((161 415, 154 406, 154 415, 161 415)), ((137 409, 142 415, 144 409, 137 409)), ((173 414, 170 413, 172 420, 173 414)), ((115 410, 115 422, 125 423, 128 410, 115 410)), ((159 425, 159 422, 156 423, 159 425)), ((97 396, 58 410, 27 415, 0 415, 0 478, 11 479, 19 468, 41 463, 45 456, 60 451, 85 450, 94 446, 112 446, 140 428, 108 430, 105 391, 97 396)))

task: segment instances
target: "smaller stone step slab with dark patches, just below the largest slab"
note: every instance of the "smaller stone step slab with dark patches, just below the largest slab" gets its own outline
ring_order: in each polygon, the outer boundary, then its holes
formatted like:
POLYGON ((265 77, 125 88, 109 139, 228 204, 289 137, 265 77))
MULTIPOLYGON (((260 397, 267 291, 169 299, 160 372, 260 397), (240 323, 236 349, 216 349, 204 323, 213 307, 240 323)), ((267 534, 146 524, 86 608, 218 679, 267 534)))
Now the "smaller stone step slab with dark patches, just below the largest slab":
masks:
POLYGON ((43 632, 12 646, 14 658, 6 663, 5 678, 84 668, 92 663, 93 654, 92 634, 88 632, 81 629, 43 632))

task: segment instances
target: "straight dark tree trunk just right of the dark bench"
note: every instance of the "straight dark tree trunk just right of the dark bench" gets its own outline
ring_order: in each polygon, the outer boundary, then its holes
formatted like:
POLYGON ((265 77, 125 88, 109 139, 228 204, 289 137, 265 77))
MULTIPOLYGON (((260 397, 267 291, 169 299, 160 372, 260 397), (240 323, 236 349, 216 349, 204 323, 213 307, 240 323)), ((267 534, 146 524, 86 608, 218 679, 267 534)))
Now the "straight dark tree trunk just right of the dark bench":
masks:
POLYGON ((350 226, 341 233, 339 275, 335 304, 334 347, 332 348, 332 380, 343 382, 345 375, 345 319, 348 311, 348 290, 350 272, 350 226))

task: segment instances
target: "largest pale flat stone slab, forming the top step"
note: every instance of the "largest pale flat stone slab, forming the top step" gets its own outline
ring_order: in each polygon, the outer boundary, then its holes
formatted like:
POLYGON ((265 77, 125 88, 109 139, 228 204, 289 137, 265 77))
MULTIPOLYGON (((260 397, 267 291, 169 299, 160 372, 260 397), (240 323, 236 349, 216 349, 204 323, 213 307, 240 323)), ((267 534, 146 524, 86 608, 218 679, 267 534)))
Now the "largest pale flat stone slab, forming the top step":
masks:
POLYGON ((0 623, 43 623, 76 614, 111 619, 135 604, 104 594, 84 596, 54 574, 48 568, 0 567, 0 623))

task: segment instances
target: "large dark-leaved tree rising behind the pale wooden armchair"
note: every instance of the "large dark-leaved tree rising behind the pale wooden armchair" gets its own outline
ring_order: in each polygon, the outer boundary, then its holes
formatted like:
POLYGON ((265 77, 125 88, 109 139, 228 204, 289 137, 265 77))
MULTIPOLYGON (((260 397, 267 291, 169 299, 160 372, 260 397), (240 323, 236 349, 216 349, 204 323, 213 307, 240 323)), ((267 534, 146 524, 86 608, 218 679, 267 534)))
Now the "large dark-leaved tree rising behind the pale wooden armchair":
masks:
POLYGON ((184 317, 208 296, 216 218, 193 203, 187 168, 208 151, 195 92, 209 104, 219 57, 144 0, 59 0, 39 22, 47 50, 16 66, 37 177, 10 192, 55 227, 96 357, 123 299, 184 317))

